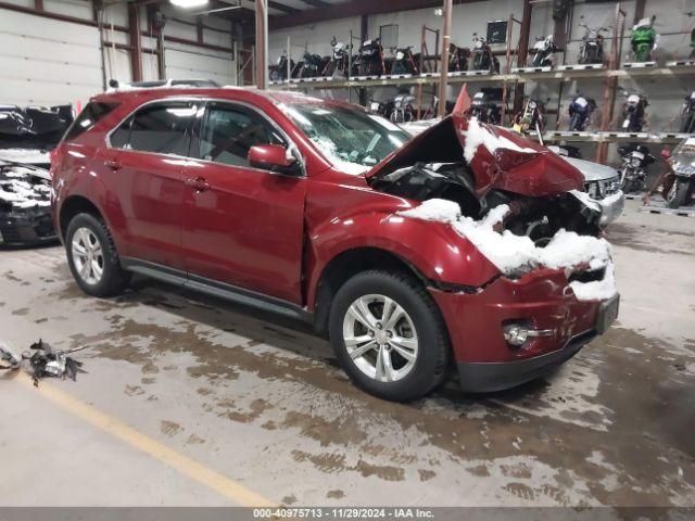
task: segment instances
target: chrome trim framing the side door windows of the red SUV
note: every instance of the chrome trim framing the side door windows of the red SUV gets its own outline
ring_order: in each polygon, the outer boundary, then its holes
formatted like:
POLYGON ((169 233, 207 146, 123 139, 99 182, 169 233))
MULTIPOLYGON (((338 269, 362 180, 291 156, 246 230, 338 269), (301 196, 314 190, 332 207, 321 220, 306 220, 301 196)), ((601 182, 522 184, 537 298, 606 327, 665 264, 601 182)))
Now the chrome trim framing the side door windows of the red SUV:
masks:
MULTIPOLYGON (((201 107, 199 107, 198 110, 200 110, 201 107)), ((198 116, 195 116, 198 117, 198 116)), ((193 122, 194 123, 194 122, 193 122)), ((191 144, 192 144, 192 139, 193 139, 193 135, 192 135, 192 128, 191 128, 191 144)), ((150 154, 150 155, 156 155, 156 156, 163 156, 163 157, 176 157, 176 158, 182 158, 186 161, 201 161, 203 163, 210 163, 213 165, 218 165, 218 166, 225 166, 228 168, 245 168, 249 170, 254 170, 254 171, 262 171, 264 174, 270 174, 270 175, 275 175, 275 176, 283 176, 283 177, 295 177, 295 178, 305 178, 306 176, 306 162, 304 160, 304 156, 302 155, 302 153, 300 152, 299 147, 294 143, 294 141, 292 139, 290 139, 289 135, 282 129, 280 128, 280 126, 270 117, 268 116, 265 111, 262 111, 261 109, 258 109, 257 106, 248 103, 245 101, 240 101, 240 100, 228 100, 225 98, 207 98, 207 97, 191 97, 191 96, 175 96, 175 97, 169 97, 169 98, 157 98, 156 100, 150 100, 150 101, 146 101, 144 103, 136 106, 132 111, 130 111, 125 117, 123 117, 117 125, 115 125, 111 130, 109 130, 109 132, 106 132, 106 137, 105 137, 105 143, 106 143, 106 148, 109 150, 118 150, 118 151, 123 151, 123 152, 135 152, 135 153, 139 153, 139 154, 150 154), (273 128, 275 128, 280 136, 282 136, 282 138, 285 138, 285 140, 288 142, 288 150, 295 150, 296 154, 299 155, 298 157, 298 162, 300 164, 300 167, 302 169, 302 175, 301 176, 291 176, 288 174, 282 174, 280 171, 273 171, 273 170, 268 170, 265 168, 255 168, 253 166, 233 166, 233 165, 227 165, 225 163, 218 163, 216 161, 208 161, 208 160, 202 160, 202 158, 198 158, 198 157, 191 157, 190 156, 190 147, 189 147, 189 154, 187 155, 178 155, 178 154, 167 154, 167 153, 163 153, 163 152, 150 152, 150 151, 146 151, 146 150, 132 150, 132 149, 119 149, 116 147, 113 147, 111 144, 111 135, 113 132, 115 132, 121 125, 123 125, 126 119, 128 119, 130 116, 132 116, 136 112, 138 112, 140 109, 143 109, 148 105, 152 105, 152 104, 156 104, 156 103, 168 103, 168 102, 199 102, 201 103, 201 107, 205 109, 205 105, 207 103, 228 103, 231 105, 240 105, 243 106, 245 109, 249 109, 250 111, 258 114, 261 117, 263 117, 273 128)))

